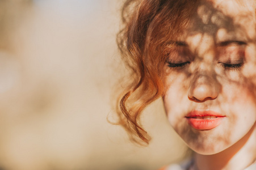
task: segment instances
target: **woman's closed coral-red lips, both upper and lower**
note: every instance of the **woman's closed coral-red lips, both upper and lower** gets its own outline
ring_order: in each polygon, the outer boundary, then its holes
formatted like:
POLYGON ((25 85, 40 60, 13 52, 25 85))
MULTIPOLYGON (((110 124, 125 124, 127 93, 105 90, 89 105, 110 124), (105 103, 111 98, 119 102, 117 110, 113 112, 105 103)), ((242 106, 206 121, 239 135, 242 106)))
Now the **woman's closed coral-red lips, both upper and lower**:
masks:
POLYGON ((211 130, 216 128, 221 124, 225 115, 214 111, 191 111, 185 118, 188 124, 196 130, 211 130), (211 117, 209 119, 204 119, 205 116, 211 117), (204 117, 204 118, 203 118, 204 117))

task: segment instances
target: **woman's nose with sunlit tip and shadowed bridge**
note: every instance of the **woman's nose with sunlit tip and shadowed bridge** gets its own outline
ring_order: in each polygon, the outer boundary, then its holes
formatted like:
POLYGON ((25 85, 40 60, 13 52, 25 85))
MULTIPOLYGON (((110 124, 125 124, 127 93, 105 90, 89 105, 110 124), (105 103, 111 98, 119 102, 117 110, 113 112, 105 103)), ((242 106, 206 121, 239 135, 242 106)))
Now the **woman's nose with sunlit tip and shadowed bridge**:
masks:
POLYGON ((214 76, 198 74, 190 83, 188 99, 199 103, 213 100, 219 95, 219 89, 219 83, 214 76))

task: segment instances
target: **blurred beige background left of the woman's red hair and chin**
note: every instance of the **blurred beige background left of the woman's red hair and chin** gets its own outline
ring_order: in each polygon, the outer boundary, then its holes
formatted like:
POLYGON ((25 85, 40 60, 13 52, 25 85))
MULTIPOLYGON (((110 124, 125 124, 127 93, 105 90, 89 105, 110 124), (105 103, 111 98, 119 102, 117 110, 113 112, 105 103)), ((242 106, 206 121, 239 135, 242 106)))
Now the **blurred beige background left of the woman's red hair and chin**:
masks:
POLYGON ((186 147, 157 100, 143 114, 152 141, 107 122, 125 72, 115 36, 120 0, 0 1, 0 167, 157 169, 186 147))

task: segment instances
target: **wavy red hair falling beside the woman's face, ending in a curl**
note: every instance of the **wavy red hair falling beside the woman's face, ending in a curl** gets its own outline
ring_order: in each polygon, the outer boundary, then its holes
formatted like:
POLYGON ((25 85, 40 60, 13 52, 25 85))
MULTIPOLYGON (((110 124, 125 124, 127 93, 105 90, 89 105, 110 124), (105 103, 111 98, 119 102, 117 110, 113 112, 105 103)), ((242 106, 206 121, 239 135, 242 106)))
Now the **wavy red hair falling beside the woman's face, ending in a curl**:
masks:
POLYGON ((117 45, 131 70, 132 81, 118 100, 117 113, 119 124, 136 142, 149 143, 150 137, 139 123, 140 114, 165 93, 163 67, 171 41, 181 35, 196 6, 196 0, 127 0, 124 3, 121 15, 124 27, 117 35, 117 45))

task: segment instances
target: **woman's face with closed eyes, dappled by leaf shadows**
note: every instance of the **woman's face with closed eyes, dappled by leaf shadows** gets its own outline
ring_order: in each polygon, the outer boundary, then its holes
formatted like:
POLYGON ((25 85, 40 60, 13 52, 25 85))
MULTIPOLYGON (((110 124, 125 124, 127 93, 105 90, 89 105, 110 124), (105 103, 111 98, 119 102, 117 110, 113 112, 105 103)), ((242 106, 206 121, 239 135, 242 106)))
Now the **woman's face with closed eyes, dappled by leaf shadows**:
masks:
POLYGON ((199 154, 240 147, 255 129, 255 8, 241 2, 202 1, 167 59, 167 117, 199 154))

